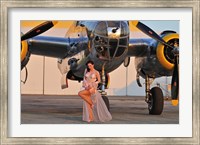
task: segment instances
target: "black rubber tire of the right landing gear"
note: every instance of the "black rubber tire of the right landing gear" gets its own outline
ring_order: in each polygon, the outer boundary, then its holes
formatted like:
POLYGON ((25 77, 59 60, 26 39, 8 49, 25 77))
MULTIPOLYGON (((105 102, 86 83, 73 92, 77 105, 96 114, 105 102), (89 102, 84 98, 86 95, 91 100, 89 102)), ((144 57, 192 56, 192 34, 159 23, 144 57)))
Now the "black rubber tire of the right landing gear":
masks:
POLYGON ((164 107, 164 98, 162 90, 159 87, 154 87, 150 90, 151 96, 148 103, 149 114, 160 115, 164 107))

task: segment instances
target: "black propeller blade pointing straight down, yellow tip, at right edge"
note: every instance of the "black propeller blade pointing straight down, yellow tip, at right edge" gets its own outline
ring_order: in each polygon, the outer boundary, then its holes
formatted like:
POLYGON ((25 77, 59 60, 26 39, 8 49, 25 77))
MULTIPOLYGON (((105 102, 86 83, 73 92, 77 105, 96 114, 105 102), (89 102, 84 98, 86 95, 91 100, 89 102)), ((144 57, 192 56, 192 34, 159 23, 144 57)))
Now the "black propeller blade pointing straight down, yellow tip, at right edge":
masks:
POLYGON ((179 68, 178 67, 179 67, 178 56, 176 56, 174 71, 172 75, 172 83, 171 83, 172 104, 174 106, 178 104, 178 94, 179 94, 179 68))

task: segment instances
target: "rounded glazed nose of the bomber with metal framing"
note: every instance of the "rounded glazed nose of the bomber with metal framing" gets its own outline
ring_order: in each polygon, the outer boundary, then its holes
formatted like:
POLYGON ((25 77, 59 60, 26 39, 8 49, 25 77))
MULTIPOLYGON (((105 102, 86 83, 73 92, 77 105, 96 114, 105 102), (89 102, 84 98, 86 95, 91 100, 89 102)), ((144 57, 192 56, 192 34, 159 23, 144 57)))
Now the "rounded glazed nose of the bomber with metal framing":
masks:
POLYGON ((128 46, 129 29, 125 21, 101 21, 94 30, 94 47, 108 59, 121 56, 128 46))

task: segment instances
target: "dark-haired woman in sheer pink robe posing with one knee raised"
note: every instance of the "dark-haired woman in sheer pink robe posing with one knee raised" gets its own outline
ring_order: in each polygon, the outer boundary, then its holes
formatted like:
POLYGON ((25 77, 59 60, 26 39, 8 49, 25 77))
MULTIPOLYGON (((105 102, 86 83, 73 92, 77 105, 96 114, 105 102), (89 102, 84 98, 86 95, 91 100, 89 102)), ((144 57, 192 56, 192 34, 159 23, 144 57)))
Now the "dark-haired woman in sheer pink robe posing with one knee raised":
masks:
POLYGON ((100 74, 94 68, 94 62, 86 63, 87 69, 84 73, 83 87, 78 95, 84 100, 83 102, 83 121, 106 122, 112 119, 101 94, 97 91, 100 82, 100 74))

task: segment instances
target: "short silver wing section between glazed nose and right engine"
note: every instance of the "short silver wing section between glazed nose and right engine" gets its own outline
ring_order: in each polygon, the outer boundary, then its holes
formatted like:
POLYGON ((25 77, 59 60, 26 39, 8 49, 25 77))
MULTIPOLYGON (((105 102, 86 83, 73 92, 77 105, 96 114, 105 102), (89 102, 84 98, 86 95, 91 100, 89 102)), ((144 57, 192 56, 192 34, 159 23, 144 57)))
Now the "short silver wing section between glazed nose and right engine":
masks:
POLYGON ((129 39, 128 56, 145 56, 149 52, 152 39, 129 39))

